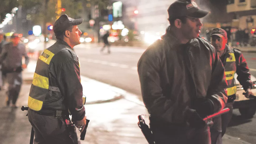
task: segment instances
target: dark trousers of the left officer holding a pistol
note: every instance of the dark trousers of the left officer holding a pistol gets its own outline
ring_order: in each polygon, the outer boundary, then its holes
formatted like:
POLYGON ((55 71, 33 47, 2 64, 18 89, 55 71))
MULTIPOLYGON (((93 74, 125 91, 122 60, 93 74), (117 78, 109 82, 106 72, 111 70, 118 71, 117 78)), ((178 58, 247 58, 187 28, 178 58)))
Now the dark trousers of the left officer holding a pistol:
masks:
POLYGON ((28 118, 35 131, 34 144, 73 144, 63 118, 40 115, 31 109, 28 118))

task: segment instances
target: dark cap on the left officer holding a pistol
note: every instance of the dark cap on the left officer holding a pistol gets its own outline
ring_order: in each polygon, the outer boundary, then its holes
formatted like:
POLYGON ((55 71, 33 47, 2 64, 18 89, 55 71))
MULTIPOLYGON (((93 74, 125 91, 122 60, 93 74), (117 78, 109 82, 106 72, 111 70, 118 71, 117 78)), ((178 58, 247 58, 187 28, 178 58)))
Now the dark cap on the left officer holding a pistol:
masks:
POLYGON ((53 31, 54 33, 60 33, 67 30, 69 26, 76 26, 80 25, 83 22, 83 19, 73 19, 71 17, 68 17, 68 15, 64 14, 61 15, 54 23, 53 25, 53 31))

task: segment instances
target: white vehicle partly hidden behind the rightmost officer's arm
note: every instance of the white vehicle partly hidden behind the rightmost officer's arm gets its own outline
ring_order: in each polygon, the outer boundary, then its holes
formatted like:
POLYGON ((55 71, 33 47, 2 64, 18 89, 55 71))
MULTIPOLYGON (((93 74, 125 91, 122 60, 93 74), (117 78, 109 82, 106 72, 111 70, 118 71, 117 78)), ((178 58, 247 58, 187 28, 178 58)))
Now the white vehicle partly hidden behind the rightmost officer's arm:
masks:
MULTIPOLYGON (((251 75, 251 80, 253 81, 252 92, 256 95, 256 78, 251 75)), ((233 105, 234 109, 238 108, 241 116, 245 118, 252 118, 256 112, 256 99, 248 99, 243 93, 243 86, 240 85, 237 80, 237 74, 235 74, 235 83, 236 83, 236 99, 233 105)))

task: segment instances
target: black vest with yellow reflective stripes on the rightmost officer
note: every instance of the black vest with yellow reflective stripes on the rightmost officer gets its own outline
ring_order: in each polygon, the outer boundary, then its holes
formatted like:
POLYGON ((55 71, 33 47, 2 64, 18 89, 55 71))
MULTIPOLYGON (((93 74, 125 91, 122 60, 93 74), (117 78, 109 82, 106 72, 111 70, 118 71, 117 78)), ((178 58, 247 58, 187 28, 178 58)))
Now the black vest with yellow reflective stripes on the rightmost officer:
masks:
POLYGON ((225 75, 227 80, 227 96, 234 95, 236 93, 236 86, 235 86, 235 73, 236 73, 236 66, 235 66, 235 54, 233 49, 229 51, 229 57, 226 58, 225 63, 225 75))

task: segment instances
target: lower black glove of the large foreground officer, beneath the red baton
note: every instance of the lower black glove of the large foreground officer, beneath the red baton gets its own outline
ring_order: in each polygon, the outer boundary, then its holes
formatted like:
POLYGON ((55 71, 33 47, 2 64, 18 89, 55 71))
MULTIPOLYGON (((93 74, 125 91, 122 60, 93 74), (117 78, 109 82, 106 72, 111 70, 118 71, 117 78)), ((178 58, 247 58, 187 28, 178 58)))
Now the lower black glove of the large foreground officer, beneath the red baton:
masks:
POLYGON ((206 126, 206 122, 199 116, 199 114, 195 110, 192 110, 190 112, 191 113, 187 119, 189 126, 195 128, 203 128, 206 126))

